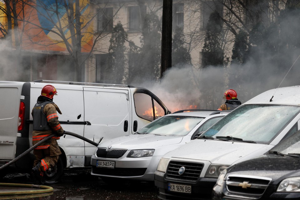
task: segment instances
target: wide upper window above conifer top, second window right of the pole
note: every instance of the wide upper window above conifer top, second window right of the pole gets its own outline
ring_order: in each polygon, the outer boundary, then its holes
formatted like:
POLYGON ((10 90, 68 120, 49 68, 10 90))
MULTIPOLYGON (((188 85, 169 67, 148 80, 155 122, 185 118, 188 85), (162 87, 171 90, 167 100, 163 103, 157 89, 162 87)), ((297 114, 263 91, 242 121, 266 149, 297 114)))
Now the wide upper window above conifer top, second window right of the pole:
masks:
POLYGON ((209 16, 212 12, 217 11, 218 13, 220 13, 221 16, 223 16, 223 5, 222 3, 217 3, 214 1, 205 1, 202 2, 202 12, 201 12, 201 29, 205 30, 208 20, 209 20, 209 16))

